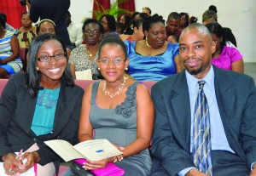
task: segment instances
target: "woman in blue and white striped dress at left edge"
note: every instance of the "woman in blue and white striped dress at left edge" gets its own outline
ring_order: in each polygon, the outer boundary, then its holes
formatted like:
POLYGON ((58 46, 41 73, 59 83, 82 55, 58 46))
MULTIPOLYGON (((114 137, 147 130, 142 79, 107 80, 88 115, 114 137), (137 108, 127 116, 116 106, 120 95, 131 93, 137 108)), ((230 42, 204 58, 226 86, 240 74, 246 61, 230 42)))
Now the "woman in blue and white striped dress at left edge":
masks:
POLYGON ((5 31, 5 21, 0 18, 0 78, 22 70, 20 47, 13 31, 5 31))

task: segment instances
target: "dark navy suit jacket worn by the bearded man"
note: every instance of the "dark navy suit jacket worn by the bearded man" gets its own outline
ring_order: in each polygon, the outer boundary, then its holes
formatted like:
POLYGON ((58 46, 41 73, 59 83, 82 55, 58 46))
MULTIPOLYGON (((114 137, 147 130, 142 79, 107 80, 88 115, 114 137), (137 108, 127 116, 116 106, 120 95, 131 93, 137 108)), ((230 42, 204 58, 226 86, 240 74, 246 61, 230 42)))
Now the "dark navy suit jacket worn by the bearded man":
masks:
MULTIPOLYGON (((231 149, 249 166, 256 162, 255 83, 247 75, 215 66, 213 69, 224 132, 231 149)), ((157 82, 151 94, 155 108, 154 164, 159 164, 169 175, 176 175, 186 167, 195 167, 190 156, 191 117, 185 71, 157 82)))

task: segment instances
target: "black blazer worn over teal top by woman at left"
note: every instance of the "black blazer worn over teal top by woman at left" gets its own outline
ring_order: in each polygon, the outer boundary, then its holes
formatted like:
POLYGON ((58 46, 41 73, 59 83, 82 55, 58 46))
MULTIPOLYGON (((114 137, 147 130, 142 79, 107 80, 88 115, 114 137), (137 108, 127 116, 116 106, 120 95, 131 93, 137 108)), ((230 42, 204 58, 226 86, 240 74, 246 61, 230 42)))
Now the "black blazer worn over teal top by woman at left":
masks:
POLYGON ((53 150, 44 145, 44 141, 65 139, 71 144, 77 142, 83 94, 83 88, 76 85, 70 88, 61 82, 53 132, 37 136, 31 130, 37 98, 28 94, 25 74, 15 74, 9 79, 0 99, 0 156, 20 149, 27 150, 37 142, 41 165, 59 159, 53 150))

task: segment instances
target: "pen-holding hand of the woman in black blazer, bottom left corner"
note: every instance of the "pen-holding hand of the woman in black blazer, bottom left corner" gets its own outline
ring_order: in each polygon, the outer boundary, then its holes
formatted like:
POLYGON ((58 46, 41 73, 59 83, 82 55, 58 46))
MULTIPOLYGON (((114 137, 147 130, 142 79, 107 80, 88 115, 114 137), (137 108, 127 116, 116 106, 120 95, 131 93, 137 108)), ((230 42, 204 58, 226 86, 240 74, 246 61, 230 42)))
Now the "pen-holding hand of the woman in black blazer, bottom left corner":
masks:
POLYGON ((8 153, 4 156, 3 167, 5 173, 8 175, 19 175, 19 173, 23 173, 20 170, 20 168, 22 167, 22 162, 16 159, 16 155, 14 153, 8 153), (14 167, 12 167, 12 165, 14 167))

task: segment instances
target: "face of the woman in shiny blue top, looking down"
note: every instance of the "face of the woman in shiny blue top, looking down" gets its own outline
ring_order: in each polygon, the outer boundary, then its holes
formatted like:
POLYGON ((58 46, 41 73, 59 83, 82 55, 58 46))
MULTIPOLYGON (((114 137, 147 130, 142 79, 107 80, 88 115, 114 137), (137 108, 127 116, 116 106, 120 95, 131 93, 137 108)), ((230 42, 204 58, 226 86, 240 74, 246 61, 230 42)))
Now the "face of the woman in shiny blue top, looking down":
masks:
POLYGON ((148 44, 151 47, 161 48, 166 42, 166 27, 161 22, 154 23, 145 31, 145 36, 148 37, 148 44))

